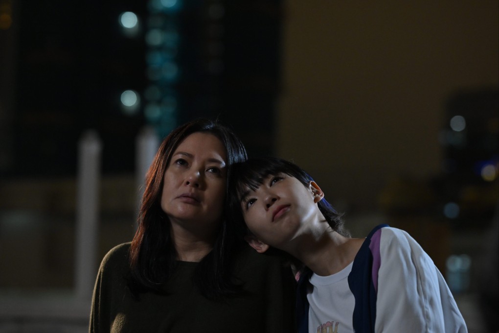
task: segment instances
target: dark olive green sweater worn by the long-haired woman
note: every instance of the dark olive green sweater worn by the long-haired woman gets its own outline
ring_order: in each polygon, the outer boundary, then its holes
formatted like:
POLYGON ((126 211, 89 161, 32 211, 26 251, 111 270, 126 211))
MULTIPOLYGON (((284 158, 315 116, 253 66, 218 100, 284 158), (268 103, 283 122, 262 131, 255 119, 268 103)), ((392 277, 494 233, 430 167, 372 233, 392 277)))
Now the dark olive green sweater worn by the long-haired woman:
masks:
POLYGON ((92 300, 90 333, 289 333, 294 331, 295 284, 291 270, 276 257, 250 247, 238 254, 234 275, 245 293, 222 302, 203 297, 193 284, 197 263, 179 262, 165 286, 168 293, 128 289, 130 243, 102 260, 92 300))

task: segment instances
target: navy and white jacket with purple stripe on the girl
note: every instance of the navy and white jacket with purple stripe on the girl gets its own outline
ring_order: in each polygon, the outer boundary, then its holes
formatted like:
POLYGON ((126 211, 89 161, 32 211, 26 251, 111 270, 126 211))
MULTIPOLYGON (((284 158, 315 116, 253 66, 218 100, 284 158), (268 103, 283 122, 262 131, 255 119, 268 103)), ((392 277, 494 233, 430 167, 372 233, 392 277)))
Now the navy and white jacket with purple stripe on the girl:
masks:
MULTIPOLYGON (((299 333, 308 332, 311 275, 306 268, 298 281, 299 333)), ((375 227, 353 261, 348 285, 355 298, 352 324, 356 333, 468 332, 442 274, 403 230, 375 227)))

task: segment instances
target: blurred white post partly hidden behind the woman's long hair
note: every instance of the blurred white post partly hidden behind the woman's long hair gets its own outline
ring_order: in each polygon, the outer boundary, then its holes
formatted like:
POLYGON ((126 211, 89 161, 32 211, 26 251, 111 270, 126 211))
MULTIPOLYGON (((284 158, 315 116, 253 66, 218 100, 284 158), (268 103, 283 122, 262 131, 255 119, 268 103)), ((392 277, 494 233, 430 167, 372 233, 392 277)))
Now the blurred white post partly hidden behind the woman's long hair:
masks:
MULTIPOLYGON (((135 140, 135 182, 137 184, 137 212, 144 194, 144 181, 147 170, 154 159, 159 147, 159 138, 154 128, 146 126, 137 135, 135 140)), ((135 223, 135 228, 138 225, 135 223)))

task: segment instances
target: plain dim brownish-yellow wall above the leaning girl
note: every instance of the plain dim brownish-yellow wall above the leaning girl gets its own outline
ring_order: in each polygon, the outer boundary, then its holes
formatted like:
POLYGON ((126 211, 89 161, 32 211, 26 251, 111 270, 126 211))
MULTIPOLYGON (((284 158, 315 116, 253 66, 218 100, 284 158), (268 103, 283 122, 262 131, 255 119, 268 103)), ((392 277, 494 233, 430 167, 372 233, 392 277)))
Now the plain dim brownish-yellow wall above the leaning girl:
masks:
POLYGON ((365 209, 392 176, 442 171, 460 88, 498 86, 498 1, 285 3, 277 154, 365 209))

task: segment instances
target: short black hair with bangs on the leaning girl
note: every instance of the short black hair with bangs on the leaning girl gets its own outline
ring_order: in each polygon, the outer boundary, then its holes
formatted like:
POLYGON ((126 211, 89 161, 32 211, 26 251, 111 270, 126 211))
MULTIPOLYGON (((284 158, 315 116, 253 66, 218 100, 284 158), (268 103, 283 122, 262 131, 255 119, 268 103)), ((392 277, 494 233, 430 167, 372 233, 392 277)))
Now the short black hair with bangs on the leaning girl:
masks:
MULTIPOLYGON (((278 157, 250 158, 233 166, 229 178, 229 209, 240 236, 250 233, 243 218, 242 199, 249 190, 256 190, 263 184, 265 178, 281 173, 298 179, 304 186, 313 181, 312 177, 296 164, 278 157)), ((342 214, 339 214, 324 198, 317 205, 331 229, 348 237, 348 232, 343 228, 342 214)))

